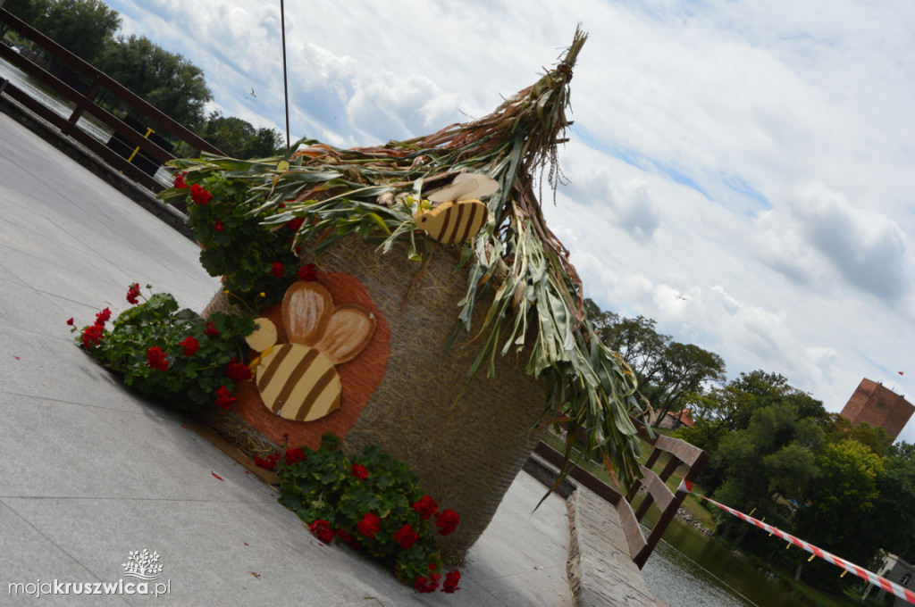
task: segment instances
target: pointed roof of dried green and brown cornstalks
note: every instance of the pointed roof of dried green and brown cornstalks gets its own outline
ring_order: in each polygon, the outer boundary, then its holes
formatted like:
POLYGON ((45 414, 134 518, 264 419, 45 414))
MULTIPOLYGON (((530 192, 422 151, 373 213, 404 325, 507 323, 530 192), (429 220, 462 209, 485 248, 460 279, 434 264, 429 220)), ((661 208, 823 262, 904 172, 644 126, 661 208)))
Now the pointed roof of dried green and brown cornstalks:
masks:
MULTIPOLYGON (((416 222, 431 207, 429 194, 468 173, 494 180, 499 187, 485 200, 487 222, 458 263, 468 267, 468 282, 455 302, 452 338, 473 331, 481 344, 468 376, 483 367, 491 375, 497 356, 524 354, 527 373, 546 379, 544 420, 565 422, 570 437, 584 427, 587 454, 599 453, 629 483, 639 474, 639 441, 630 421, 630 414, 642 412, 636 379, 595 335, 584 313, 582 283, 568 251, 546 226, 534 192, 538 172, 553 189, 562 180, 557 145, 565 141, 568 83, 586 39, 576 31, 555 68, 495 112, 437 133, 350 150, 302 140, 292 159, 204 154, 171 164, 191 188, 205 184, 212 191, 223 179, 232 187, 243 184, 249 220, 274 229, 295 221, 290 251, 302 246, 319 255, 354 234, 382 253, 405 242, 409 258, 423 264, 417 263, 417 274, 439 246, 416 222), (482 325, 471 326, 484 296, 491 298, 487 314, 482 325)), ((176 188, 163 197, 186 195, 176 188)), ((570 440, 566 459, 571 450, 570 440)))

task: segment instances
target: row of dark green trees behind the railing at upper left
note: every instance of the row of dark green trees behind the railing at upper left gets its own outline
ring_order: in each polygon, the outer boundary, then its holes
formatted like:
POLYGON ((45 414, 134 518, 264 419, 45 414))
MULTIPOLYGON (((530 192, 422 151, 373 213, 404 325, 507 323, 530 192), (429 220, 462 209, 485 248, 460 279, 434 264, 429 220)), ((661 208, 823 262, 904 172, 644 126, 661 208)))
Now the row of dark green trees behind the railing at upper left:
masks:
MULTIPOLYGON (((6 0, 3 8, 101 69, 223 154, 253 158, 285 152, 285 140, 275 129, 257 129, 250 122, 220 112, 207 114, 206 104, 213 95, 203 70, 147 37, 119 35, 120 14, 101 0, 6 0)), ((179 156, 191 152, 177 150, 179 156)))

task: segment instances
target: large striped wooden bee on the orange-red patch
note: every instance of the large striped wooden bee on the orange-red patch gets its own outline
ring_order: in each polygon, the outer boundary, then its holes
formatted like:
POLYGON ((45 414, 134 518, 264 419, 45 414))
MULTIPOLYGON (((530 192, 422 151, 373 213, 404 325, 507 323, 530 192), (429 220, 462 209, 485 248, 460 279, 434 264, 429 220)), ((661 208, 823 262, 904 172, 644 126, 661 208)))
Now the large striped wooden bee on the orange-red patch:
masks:
POLYGON ((354 304, 334 305, 317 282, 293 283, 282 304, 288 344, 276 344, 276 326, 254 322, 246 337, 261 352, 254 381, 264 404, 295 421, 315 421, 340 406, 342 384, 336 365, 357 357, 375 334, 375 318, 354 304))

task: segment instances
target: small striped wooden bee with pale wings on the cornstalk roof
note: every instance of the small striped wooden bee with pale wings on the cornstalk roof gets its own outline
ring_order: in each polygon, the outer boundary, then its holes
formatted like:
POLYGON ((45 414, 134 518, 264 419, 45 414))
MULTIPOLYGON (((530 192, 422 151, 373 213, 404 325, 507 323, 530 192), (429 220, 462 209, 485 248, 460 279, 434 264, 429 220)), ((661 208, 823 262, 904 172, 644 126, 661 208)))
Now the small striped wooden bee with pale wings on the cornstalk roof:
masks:
POLYGON ((450 185, 429 195, 436 207, 416 211, 416 227, 443 244, 466 242, 476 236, 490 218, 489 208, 477 197, 489 196, 499 182, 476 173, 461 173, 450 185))

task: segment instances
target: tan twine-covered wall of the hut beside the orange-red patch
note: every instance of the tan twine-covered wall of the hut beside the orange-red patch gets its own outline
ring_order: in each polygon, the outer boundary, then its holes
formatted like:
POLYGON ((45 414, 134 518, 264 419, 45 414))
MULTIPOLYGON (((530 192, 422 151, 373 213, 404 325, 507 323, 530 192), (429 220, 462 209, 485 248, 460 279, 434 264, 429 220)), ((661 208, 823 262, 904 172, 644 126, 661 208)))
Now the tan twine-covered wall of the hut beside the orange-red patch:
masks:
MULTIPOLYGON (((436 248, 420 264, 397 247, 387 255, 357 237, 343 240, 315 262, 322 272, 358 278, 391 328, 391 355, 378 389, 343 439, 358 455, 377 444, 408 463, 440 508, 460 515, 457 530, 440 538, 443 559, 460 563, 490 524, 496 508, 540 437, 545 384, 524 372, 526 358, 496 357, 495 377, 485 370, 469 380, 481 344, 463 333, 447 352, 467 273, 455 269, 456 250, 436 248), (404 299, 405 297, 405 299, 404 299)), ((217 293, 203 315, 228 310, 217 293)), ((481 302, 479 329, 488 303, 481 302)), ((485 337, 479 337, 483 339, 485 337)), ((346 407, 346 402, 342 408, 346 407)), ((533 505, 532 505, 533 507, 533 505)), ((437 536, 437 534, 436 534, 437 536)))

